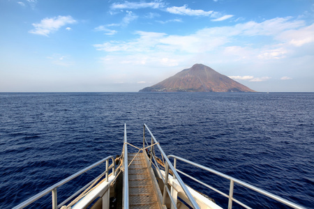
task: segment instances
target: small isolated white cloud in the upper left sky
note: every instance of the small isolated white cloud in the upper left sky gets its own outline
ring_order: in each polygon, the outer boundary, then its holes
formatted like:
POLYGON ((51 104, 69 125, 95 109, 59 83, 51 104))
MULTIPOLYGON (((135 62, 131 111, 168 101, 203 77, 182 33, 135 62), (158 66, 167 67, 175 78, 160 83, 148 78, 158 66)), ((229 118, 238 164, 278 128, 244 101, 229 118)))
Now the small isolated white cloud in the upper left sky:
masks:
POLYGON ((48 36, 52 31, 58 31, 61 26, 66 24, 73 24, 76 20, 71 16, 58 16, 52 18, 45 18, 40 21, 40 23, 33 23, 32 25, 35 29, 29 31, 29 33, 34 33, 38 35, 48 36))

